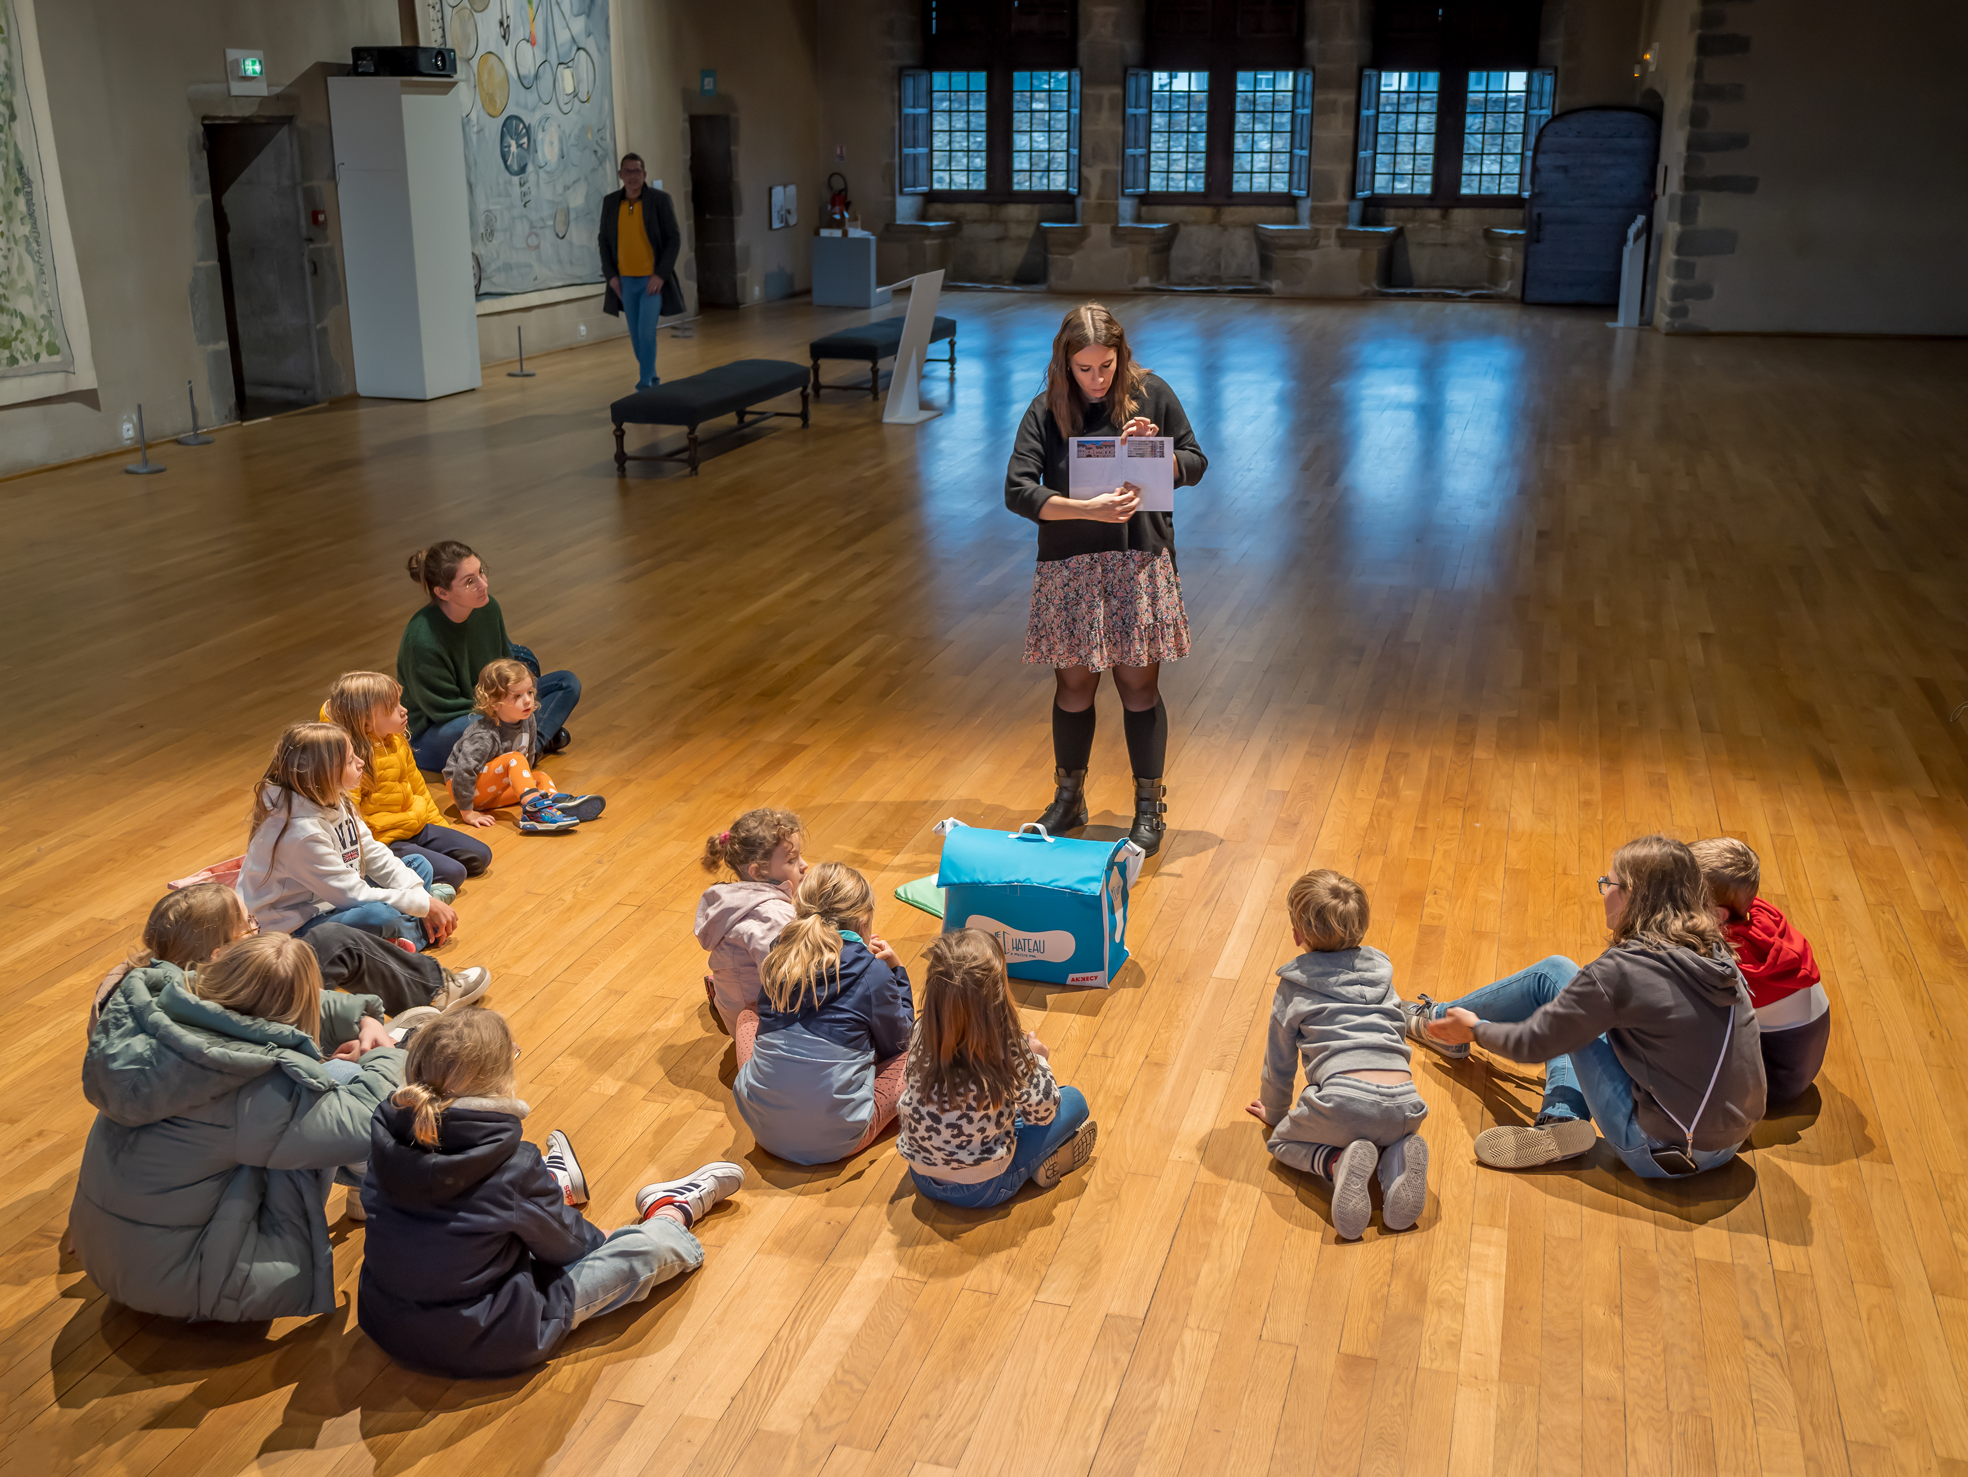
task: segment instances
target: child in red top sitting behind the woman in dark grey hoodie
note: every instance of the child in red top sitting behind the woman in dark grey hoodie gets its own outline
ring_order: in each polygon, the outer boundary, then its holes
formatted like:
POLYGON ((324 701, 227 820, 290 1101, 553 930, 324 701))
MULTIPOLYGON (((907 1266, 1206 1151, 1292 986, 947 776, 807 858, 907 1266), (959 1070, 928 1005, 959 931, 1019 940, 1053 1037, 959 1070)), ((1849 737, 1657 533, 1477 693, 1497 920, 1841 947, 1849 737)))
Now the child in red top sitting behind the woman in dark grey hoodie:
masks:
POLYGON ((1702 863, 1708 901, 1750 985, 1763 1036, 1769 1105, 1777 1107, 1803 1093, 1824 1066, 1832 1005, 1818 983, 1818 964, 1791 920, 1755 895, 1763 877, 1755 852, 1734 836, 1694 842, 1691 850, 1702 863))

